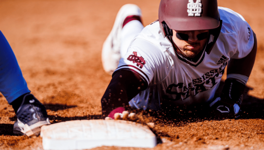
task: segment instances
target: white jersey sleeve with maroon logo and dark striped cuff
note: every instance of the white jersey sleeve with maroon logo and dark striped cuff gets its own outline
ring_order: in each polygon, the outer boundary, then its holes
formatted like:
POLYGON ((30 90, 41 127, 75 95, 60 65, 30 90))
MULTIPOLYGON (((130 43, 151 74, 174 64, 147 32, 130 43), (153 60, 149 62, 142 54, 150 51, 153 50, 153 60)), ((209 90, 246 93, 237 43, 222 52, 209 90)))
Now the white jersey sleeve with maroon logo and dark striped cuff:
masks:
POLYGON ((134 71, 149 85, 162 59, 162 51, 157 46, 144 39, 136 38, 126 55, 120 59, 115 72, 121 69, 134 71))

